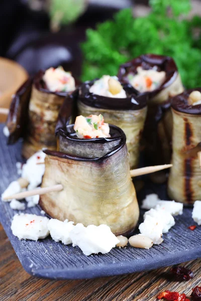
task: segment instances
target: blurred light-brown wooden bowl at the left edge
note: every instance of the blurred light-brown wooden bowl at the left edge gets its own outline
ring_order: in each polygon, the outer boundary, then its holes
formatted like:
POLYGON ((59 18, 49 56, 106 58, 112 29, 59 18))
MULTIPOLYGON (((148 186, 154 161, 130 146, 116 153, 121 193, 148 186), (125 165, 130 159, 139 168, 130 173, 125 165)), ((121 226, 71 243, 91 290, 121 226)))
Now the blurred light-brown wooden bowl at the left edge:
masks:
MULTIPOLYGON (((18 63, 0 57, 0 108, 9 108, 12 95, 28 78, 27 71, 18 63)), ((0 114, 0 122, 5 122, 6 114, 0 114)))

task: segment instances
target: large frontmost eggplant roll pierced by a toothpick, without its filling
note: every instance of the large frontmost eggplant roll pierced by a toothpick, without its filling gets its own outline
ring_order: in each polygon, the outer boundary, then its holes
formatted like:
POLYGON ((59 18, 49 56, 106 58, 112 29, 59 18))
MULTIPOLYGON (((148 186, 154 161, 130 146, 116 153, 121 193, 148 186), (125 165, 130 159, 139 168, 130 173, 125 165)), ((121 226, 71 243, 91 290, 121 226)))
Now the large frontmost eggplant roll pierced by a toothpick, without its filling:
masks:
POLYGON ((129 235, 139 218, 130 176, 124 132, 110 125, 110 138, 79 139, 73 124, 58 131, 60 152, 45 150, 42 187, 62 184, 63 190, 40 197, 53 218, 84 226, 107 224, 114 234, 129 235))

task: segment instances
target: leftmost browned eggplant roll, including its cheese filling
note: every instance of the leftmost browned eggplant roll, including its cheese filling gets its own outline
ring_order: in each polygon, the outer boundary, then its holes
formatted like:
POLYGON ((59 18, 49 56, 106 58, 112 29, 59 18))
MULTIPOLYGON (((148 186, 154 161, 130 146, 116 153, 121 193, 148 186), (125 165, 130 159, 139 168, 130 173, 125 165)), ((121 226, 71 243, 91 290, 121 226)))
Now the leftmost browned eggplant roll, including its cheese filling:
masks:
MULTIPOLYGON (((14 143, 24 138, 22 155, 29 158, 39 149, 56 149, 55 126, 61 105, 73 102, 71 93, 75 90, 75 80, 62 67, 39 71, 16 93, 7 120, 10 131, 8 142, 14 143)), ((71 105, 68 106, 68 117, 71 105)))

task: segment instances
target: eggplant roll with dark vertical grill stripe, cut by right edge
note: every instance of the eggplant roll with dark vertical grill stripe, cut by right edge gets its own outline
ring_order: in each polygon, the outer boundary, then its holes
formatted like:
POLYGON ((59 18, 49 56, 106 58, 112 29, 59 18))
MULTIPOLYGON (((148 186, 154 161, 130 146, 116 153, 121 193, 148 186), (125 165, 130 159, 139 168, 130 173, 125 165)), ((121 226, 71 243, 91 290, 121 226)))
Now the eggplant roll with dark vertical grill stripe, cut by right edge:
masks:
MULTIPOLYGON (((193 90, 201 92, 201 88, 193 90)), ((193 90, 187 90, 171 101, 173 167, 168 180, 168 195, 185 204, 201 199, 201 169, 197 157, 201 150, 201 104, 189 104, 193 90)))

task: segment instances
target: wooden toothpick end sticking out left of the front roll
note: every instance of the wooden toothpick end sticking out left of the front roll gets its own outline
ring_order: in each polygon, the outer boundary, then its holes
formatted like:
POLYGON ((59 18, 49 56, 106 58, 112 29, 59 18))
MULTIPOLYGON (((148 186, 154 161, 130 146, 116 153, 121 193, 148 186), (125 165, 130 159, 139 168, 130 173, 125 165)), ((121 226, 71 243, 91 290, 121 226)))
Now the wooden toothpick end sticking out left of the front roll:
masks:
POLYGON ((63 186, 61 184, 58 184, 58 185, 53 185, 51 187, 37 188, 37 189, 33 189, 33 190, 28 190, 25 192, 20 192, 20 193, 14 194, 12 196, 5 197, 4 200, 12 200, 12 199, 21 200, 21 199, 24 199, 27 197, 31 197, 31 196, 35 196, 35 195, 42 195, 42 194, 46 194, 48 192, 61 191, 61 190, 63 190, 63 186))

